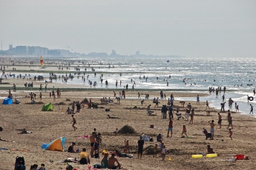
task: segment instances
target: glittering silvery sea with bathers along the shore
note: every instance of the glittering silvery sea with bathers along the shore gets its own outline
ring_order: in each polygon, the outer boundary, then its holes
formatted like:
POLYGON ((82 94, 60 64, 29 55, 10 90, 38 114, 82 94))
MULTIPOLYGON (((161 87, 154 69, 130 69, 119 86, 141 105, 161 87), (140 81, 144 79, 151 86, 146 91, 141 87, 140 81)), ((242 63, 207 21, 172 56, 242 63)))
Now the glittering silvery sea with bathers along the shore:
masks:
MULTIPOLYGON (((45 65, 47 66, 47 62, 45 65)), ((56 73, 56 76, 61 78, 53 80, 52 83, 65 83, 62 76, 76 73, 74 79, 68 80, 67 83, 74 87, 84 85, 84 88, 92 89, 106 89, 106 80, 108 80, 108 89, 111 90, 123 89, 125 85, 131 90, 134 85, 134 89, 137 90, 163 90, 166 94, 171 92, 209 94, 209 87, 215 89, 221 87, 222 92, 218 97, 215 94, 200 97, 200 101, 208 101, 210 108, 217 109, 221 108, 221 96, 223 96, 223 88, 226 87, 225 101, 228 103, 228 99, 232 98, 234 103, 239 105, 239 113, 248 115, 250 104, 256 106, 256 96, 253 96, 253 89, 256 86, 256 58, 85 57, 63 59, 62 62, 56 62, 56 66, 63 67, 63 71, 67 73, 56 73), (64 66, 67 62, 72 62, 68 70, 64 66), (80 70, 76 71, 76 67, 80 70), (92 72, 93 69, 96 75, 92 72), (80 76, 77 77, 77 73, 81 73, 80 76), (81 76, 85 77, 85 83, 81 76), (93 83, 96 81, 97 85, 91 87, 89 80, 93 83), (248 103, 247 95, 255 99, 248 103)), ((25 73, 20 74, 24 76, 25 73)), ((49 77, 49 73, 42 75, 49 77)), ((31 76, 38 76, 38 73, 31 73, 31 76)), ((58 85, 56 84, 55 87, 58 88, 58 85)), ((159 96, 150 96, 152 99, 154 97, 159 96)), ((196 101, 196 96, 175 99, 196 101)), ((234 105, 228 108, 226 104, 225 110, 236 111, 234 105)))

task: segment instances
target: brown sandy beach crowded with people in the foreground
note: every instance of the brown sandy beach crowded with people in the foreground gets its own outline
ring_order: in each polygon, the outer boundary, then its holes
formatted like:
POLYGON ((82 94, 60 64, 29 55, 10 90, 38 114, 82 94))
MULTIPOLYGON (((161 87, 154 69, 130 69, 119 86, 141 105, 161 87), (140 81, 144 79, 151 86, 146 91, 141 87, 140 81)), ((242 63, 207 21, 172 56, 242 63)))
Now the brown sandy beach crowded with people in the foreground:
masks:
MULTIPOLYGON (((10 66, 9 66, 10 67, 10 66)), ((20 70, 25 70, 25 67, 20 67, 20 70)), ((18 67, 16 71, 19 71, 18 67)), ((28 69, 28 66, 26 66, 28 69)), ((46 71, 54 70, 53 67, 49 67, 46 71), (49 70, 48 70, 49 69, 49 70)), ((39 69, 40 71, 40 69, 39 69)), ((55 71, 55 70, 54 70, 55 71)), ((32 73, 33 71, 31 71, 32 73)), ((28 69, 29 73, 29 69, 28 69)), ((40 73, 38 73, 40 74, 40 73)), ((90 75, 92 76, 92 75, 90 75)), ((45 164, 46 169, 65 169, 65 163, 60 162, 67 158, 79 159, 79 153, 68 152, 54 152, 41 149, 43 143, 50 143, 52 140, 62 136, 67 136, 65 142, 65 150, 72 142, 76 143, 75 149, 82 150, 86 148, 86 151, 90 153, 90 139, 78 138, 79 136, 91 135, 93 129, 96 128, 97 132, 102 135, 102 144, 100 145, 100 159, 91 159, 90 166, 93 164, 100 164, 103 156, 102 150, 108 152, 115 152, 120 150, 124 152, 124 141, 129 139, 130 152, 129 155, 133 155, 132 159, 129 158, 117 158, 121 166, 124 169, 255 169, 255 118, 250 115, 241 115, 236 113, 234 108, 231 110, 234 129, 233 140, 231 140, 228 133, 227 122, 227 110, 220 112, 220 109, 212 108, 209 103, 211 115, 206 114, 206 105, 204 100, 200 101, 200 104, 196 104, 196 96, 199 95, 200 99, 209 97, 207 89, 205 91, 198 90, 198 92, 182 91, 179 90, 164 90, 166 99, 160 99, 159 89, 147 89, 147 88, 135 88, 134 92, 131 92, 131 86, 129 91, 126 92, 126 99, 121 99, 120 104, 113 98, 113 90, 116 91, 116 96, 124 87, 115 88, 90 88, 86 85, 74 85, 72 83, 48 83, 47 92, 42 92, 42 101, 39 99, 39 87, 40 83, 44 85, 44 82, 33 81, 33 88, 25 88, 24 83, 30 82, 28 77, 22 78, 8 78, 3 82, 8 84, 0 85, 1 102, 8 96, 8 89, 12 90, 13 83, 17 87, 16 92, 12 92, 13 101, 19 99, 21 104, 4 105, 1 104, 1 126, 3 131, 0 132, 1 139, 6 139, 15 142, 0 141, 1 148, 7 148, 8 150, 0 150, 0 169, 13 169, 15 164, 15 157, 24 157, 27 169, 33 164, 45 164), (61 90, 61 98, 54 99, 49 96, 49 93, 57 88, 61 90), (30 92, 36 93, 36 103, 32 104, 28 97, 30 92), (141 99, 138 99, 138 92, 141 94, 141 99), (149 94, 150 98, 145 99, 145 94, 149 94), (168 119, 161 118, 161 106, 167 104, 167 99, 170 95, 174 96, 174 113, 179 108, 180 113, 184 117, 186 106, 191 103, 193 109, 195 109, 195 116, 193 125, 189 124, 189 121, 185 119, 177 120, 177 116, 173 115, 173 136, 172 138, 166 138, 168 129, 168 119), (71 115, 65 113, 68 107, 71 107, 72 101, 82 102, 84 98, 92 98, 93 103, 97 103, 98 108, 88 108, 85 105, 81 108, 79 113, 74 114, 76 118, 77 130, 72 128, 71 115), (110 97, 113 103, 101 104, 100 99, 102 97, 110 97), (159 107, 154 108, 155 104, 152 103, 154 97, 159 97, 159 107), (67 100, 68 99, 68 100, 67 100), (141 100, 144 99, 145 103, 141 106, 141 100), (178 100, 179 99, 179 100, 178 100), (191 100, 183 100, 191 99, 191 100), (180 107, 180 100, 185 101, 185 107, 180 107), (42 111, 44 104, 52 103, 53 111, 42 111), (151 109, 154 111, 154 115, 147 116, 147 106, 151 104, 151 109), (110 111, 106 111, 109 109, 110 111), (220 112, 222 115, 222 127, 218 129, 218 115, 220 112), (107 115, 120 118, 107 118, 107 115), (214 120, 216 124, 214 139, 205 140, 203 128, 210 131, 210 120, 214 120), (116 128, 121 129, 125 125, 130 125, 136 131, 134 134, 118 134, 114 136, 113 131, 116 128), (150 125, 154 125, 156 128, 150 128, 150 125), (182 125, 186 125, 189 138, 181 138, 182 125), (31 134, 19 134, 20 129, 28 129, 31 134), (158 142, 145 141, 143 157, 138 158, 138 140, 143 133, 147 133, 148 136, 156 140, 156 136, 163 134, 164 145, 166 146, 166 158, 162 161, 162 158, 158 154, 157 157, 153 157, 150 153, 152 147, 158 142), (207 153, 207 145, 211 145, 215 153, 218 153, 218 157, 203 157, 200 159, 191 158, 191 155, 207 153), (147 153, 147 154, 146 154, 147 153), (150 154, 148 154, 150 153, 150 154), (230 159, 230 154, 244 154, 250 157, 250 160, 237 160, 237 161, 225 161, 230 159), (171 160, 168 160, 168 159, 171 160), (54 160, 50 162, 49 160, 54 160)), ((178 88, 179 89, 179 88, 178 88)), ((44 91, 44 86, 43 89, 44 91)), ((161 89, 162 90, 162 89, 161 89)), ((13 90, 12 90, 13 91, 13 90)), ((218 99, 220 101, 220 99, 218 99)), ((234 106, 233 106, 234 107, 234 106)), ((190 120, 190 117, 189 117, 190 120)), ((158 143, 159 144, 159 143, 158 143)), ((88 169, 88 165, 79 165, 70 163, 73 167, 78 169, 88 169)))

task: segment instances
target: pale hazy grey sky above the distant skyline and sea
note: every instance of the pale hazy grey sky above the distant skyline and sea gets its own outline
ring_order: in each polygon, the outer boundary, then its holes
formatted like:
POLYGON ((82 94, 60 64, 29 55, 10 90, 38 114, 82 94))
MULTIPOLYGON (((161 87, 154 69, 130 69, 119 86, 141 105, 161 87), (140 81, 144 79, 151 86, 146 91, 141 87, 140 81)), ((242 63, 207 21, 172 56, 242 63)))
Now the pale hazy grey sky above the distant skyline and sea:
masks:
POLYGON ((0 0, 3 50, 256 57, 256 1, 0 0), (68 48, 70 46, 70 48, 68 48))

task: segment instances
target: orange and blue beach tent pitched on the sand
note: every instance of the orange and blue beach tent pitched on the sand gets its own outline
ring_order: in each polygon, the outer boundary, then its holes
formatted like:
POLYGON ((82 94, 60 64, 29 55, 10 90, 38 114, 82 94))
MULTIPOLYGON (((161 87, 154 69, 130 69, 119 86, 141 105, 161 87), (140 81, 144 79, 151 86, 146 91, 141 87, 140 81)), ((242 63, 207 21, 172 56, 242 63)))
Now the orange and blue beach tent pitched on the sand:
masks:
POLYGON ((52 141, 49 144, 44 143, 42 145, 42 149, 64 152, 66 138, 67 138, 67 136, 60 137, 58 139, 55 139, 54 141, 52 141))

